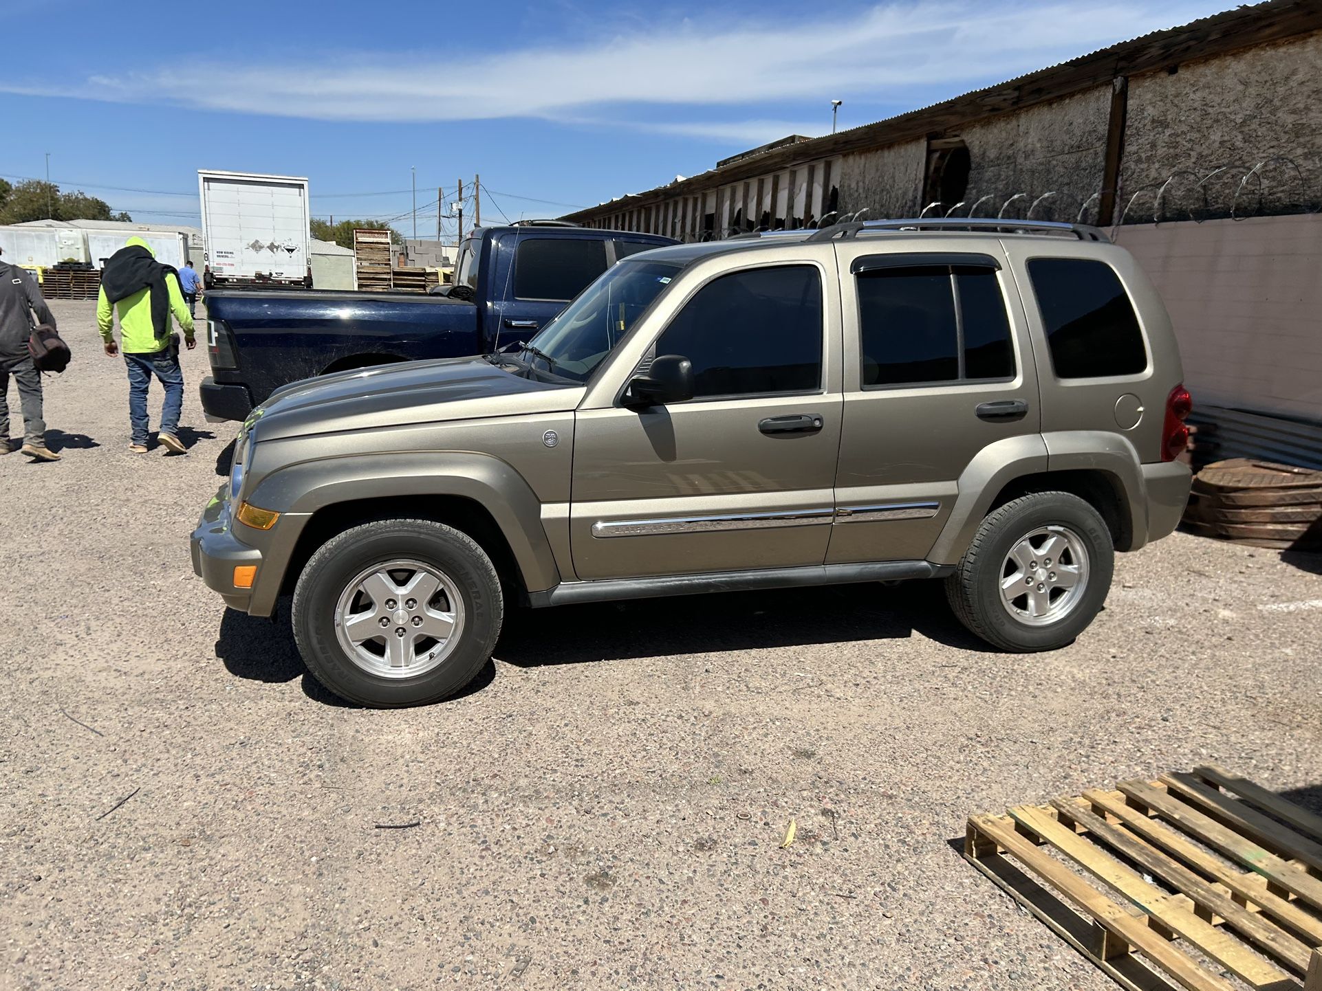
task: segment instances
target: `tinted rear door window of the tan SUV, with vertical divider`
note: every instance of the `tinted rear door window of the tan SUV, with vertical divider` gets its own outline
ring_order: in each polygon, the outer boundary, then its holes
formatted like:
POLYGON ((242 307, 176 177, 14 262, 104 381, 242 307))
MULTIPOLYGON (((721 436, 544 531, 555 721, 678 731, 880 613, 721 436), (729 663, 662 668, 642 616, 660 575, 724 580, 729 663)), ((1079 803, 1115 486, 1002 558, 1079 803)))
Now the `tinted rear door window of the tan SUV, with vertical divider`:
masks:
POLYGON ((880 268, 859 272, 857 285, 865 386, 1014 377, 994 270, 880 268))

